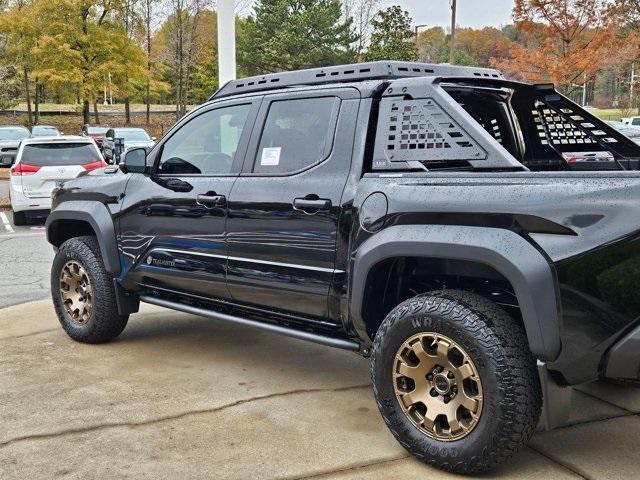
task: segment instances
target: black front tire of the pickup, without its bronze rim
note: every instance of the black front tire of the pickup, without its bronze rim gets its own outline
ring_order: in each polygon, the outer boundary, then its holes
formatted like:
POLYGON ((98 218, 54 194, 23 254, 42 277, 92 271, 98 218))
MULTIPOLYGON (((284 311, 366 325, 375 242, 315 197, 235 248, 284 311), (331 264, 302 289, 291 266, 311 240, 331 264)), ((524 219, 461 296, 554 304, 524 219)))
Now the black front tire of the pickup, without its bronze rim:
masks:
POLYGON ((76 237, 62 244, 51 267, 51 295, 62 328, 78 342, 105 343, 113 340, 122 333, 129 320, 129 315, 118 314, 113 281, 104 268, 95 237, 76 237), (71 261, 84 267, 94 292, 91 313, 83 324, 74 321, 67 313, 60 293, 60 274, 71 261))

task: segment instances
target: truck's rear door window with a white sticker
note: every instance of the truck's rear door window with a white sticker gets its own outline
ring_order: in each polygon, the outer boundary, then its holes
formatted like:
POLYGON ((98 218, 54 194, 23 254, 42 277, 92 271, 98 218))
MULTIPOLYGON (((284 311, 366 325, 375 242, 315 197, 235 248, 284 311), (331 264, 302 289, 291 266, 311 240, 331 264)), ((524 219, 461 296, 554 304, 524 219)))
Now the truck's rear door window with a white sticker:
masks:
POLYGON ((273 102, 265 120, 254 173, 292 173, 331 151, 340 105, 336 97, 273 102))

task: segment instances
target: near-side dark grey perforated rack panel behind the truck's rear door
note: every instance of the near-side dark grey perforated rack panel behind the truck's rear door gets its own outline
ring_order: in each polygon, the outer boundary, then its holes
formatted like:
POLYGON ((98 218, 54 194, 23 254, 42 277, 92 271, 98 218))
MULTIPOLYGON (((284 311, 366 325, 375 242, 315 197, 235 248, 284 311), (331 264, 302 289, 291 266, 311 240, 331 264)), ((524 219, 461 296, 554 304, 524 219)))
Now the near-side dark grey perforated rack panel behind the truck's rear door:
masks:
POLYGON ((484 158, 485 151, 432 98, 381 101, 374 168, 484 158))

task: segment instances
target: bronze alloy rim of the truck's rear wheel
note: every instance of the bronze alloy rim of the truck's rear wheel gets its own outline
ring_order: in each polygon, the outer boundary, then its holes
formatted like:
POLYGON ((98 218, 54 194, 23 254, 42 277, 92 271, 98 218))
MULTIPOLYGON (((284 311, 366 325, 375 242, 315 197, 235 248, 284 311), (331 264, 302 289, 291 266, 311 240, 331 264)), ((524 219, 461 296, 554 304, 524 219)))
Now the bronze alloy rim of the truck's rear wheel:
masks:
POLYGON ((413 335, 400 346, 393 388, 407 418, 435 440, 466 437, 482 414, 482 383, 473 361, 438 333, 413 335))

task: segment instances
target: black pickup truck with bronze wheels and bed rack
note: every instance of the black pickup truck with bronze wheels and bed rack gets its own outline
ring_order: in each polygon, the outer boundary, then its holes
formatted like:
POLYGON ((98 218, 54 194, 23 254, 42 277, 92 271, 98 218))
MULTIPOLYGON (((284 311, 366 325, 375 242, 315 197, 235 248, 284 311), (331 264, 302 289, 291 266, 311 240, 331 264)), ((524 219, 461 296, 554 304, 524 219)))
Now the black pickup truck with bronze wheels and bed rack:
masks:
POLYGON ((638 378, 639 149, 491 69, 232 81, 54 192, 55 310, 81 342, 142 301, 353 350, 409 452, 486 471, 569 386, 638 378))

